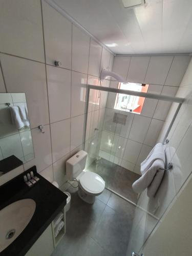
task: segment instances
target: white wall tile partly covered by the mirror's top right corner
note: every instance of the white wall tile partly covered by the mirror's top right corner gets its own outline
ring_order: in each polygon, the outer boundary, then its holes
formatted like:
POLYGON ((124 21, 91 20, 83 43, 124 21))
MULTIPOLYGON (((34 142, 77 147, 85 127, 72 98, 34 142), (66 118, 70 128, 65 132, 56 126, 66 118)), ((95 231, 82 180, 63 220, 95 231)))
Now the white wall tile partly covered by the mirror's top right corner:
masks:
POLYGON ((7 91, 26 93, 31 127, 48 124, 45 65, 4 54, 1 54, 1 62, 7 91))

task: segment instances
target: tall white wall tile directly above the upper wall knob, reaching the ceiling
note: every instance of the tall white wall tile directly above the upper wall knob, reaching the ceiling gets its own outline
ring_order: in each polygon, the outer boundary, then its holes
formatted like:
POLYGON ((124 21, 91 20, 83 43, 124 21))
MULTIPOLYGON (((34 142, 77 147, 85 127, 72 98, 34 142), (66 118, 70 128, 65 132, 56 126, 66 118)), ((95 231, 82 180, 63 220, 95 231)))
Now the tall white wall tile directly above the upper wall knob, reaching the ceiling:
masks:
POLYGON ((46 62, 54 65, 60 61, 61 67, 71 69, 72 24, 49 4, 42 1, 46 62))

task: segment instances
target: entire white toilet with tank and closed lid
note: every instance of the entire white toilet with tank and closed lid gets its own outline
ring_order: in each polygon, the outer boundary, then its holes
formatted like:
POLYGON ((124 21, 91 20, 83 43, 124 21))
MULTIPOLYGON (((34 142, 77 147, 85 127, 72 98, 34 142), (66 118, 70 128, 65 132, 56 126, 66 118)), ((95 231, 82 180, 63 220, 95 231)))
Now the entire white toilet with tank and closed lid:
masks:
POLYGON ((89 203, 95 202, 95 197, 99 196, 104 190, 104 180, 96 173, 86 172, 88 153, 81 150, 66 162, 66 174, 69 181, 78 181, 79 197, 89 203))

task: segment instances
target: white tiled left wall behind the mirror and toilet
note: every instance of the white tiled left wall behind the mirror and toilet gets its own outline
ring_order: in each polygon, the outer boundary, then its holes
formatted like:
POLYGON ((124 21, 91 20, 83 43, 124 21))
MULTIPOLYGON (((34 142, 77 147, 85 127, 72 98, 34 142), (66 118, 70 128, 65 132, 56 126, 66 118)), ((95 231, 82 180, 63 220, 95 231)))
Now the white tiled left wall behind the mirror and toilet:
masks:
MULTIPOLYGON (((113 55, 45 1, 1 1, 0 23, 0 92, 24 92, 28 104, 35 159, 24 169, 35 164, 61 186, 66 159, 82 148, 83 84, 98 85, 100 70, 112 67, 113 55)), ((92 93, 89 117, 97 115, 100 124, 106 97, 98 96, 92 93)))

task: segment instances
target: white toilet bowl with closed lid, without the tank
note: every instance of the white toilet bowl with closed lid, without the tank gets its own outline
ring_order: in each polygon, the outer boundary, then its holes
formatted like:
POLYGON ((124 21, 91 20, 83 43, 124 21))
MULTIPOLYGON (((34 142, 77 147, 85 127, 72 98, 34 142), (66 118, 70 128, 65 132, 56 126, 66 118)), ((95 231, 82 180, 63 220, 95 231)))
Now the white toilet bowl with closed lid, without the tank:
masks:
POLYGON ((103 192, 105 186, 104 180, 98 174, 91 172, 82 172, 78 183, 79 197, 89 204, 95 202, 95 197, 103 192))

